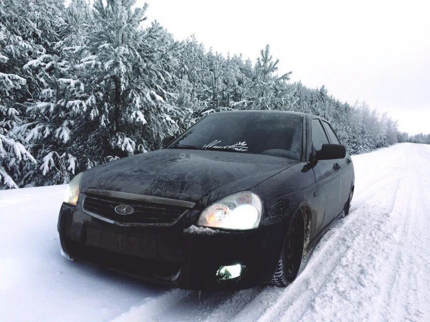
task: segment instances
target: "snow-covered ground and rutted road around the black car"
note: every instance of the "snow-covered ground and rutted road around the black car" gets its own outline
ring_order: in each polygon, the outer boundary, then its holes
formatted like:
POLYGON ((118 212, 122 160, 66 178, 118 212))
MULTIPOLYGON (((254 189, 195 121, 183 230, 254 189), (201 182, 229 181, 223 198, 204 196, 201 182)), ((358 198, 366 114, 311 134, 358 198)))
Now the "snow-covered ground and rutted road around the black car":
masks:
POLYGON ((353 156, 348 217, 285 289, 187 292, 67 261, 63 186, 0 192, 0 321, 429 321, 430 145, 353 156))

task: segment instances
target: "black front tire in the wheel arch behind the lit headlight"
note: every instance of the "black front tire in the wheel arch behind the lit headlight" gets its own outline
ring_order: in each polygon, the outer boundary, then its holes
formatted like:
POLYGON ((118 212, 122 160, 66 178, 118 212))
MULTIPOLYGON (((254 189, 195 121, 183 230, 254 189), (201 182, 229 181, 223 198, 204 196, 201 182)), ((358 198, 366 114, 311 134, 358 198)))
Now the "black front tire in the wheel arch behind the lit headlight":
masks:
POLYGON ((282 246, 282 252, 272 277, 272 284, 285 287, 299 274, 305 243, 305 219, 299 210, 291 219, 282 246))

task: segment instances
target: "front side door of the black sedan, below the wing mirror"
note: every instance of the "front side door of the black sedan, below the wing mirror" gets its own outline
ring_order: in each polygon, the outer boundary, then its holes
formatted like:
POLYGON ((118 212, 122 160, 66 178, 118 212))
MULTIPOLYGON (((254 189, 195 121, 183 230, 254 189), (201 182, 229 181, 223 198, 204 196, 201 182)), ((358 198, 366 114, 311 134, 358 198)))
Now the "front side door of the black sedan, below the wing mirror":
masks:
MULTIPOLYGON (((329 139, 319 119, 313 119, 311 124, 312 146, 318 151, 323 144, 329 143, 329 139)), ((322 227, 327 226, 340 213, 340 177, 336 164, 337 159, 318 160, 313 168, 320 201, 319 212, 324 213, 322 227)))

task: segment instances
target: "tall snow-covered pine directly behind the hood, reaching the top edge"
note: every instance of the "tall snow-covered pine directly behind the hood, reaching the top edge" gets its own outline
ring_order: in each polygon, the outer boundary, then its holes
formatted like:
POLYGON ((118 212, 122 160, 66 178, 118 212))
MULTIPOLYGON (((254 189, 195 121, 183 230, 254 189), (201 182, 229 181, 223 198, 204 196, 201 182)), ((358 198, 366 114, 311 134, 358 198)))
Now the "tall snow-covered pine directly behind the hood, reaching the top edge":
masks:
POLYGON ((160 147, 182 113, 167 103, 171 93, 164 89, 175 44, 158 23, 141 29, 147 5, 133 9, 134 3, 95 2, 89 51, 79 66, 90 75, 88 107, 111 147, 105 153, 117 156, 160 147))

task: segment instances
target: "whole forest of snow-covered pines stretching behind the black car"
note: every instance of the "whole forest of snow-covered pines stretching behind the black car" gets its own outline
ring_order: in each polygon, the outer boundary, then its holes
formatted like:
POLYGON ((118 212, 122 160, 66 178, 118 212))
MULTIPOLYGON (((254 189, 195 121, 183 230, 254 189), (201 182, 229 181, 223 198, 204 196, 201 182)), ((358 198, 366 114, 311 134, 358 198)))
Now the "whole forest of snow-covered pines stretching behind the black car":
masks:
POLYGON ((430 143, 365 102, 290 82, 269 45, 253 61, 193 36, 177 41, 147 21, 147 8, 134 0, 0 0, 0 185, 67 183, 233 109, 320 115, 352 154, 430 143))

